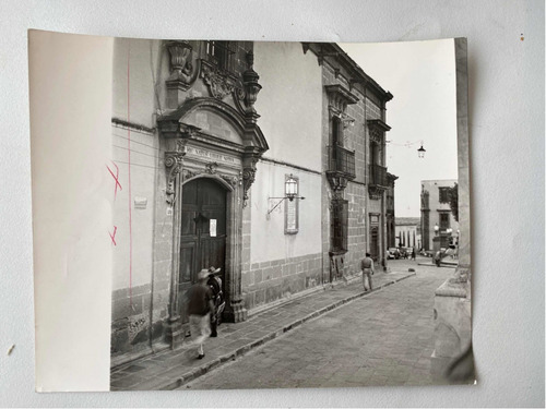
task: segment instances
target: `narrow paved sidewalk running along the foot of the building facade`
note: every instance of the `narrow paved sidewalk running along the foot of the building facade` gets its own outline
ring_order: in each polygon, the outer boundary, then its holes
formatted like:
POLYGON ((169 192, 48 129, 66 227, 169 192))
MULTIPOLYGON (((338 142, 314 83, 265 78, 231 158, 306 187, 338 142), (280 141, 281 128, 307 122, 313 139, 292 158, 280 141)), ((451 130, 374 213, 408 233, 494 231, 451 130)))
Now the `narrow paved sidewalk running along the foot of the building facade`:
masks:
MULTIPOLYGON (((372 277, 372 292, 411 276, 415 276, 415 273, 378 273, 372 277)), ((361 278, 357 276, 347 284, 337 281, 334 286, 324 286, 318 292, 265 310, 248 321, 224 323, 218 327, 217 338, 206 340, 204 359, 197 359, 195 348, 192 346, 164 350, 115 368, 110 373, 110 389, 177 388, 311 318, 369 293, 364 292, 361 278)))

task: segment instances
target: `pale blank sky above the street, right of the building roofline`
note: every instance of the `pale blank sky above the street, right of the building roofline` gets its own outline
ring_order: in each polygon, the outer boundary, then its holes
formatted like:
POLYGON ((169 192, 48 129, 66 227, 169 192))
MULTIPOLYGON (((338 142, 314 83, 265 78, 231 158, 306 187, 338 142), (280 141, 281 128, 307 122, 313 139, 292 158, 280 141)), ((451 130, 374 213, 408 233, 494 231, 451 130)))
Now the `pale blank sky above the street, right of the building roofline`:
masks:
POLYGON ((387 104, 387 167, 396 217, 420 216, 420 181, 458 179, 455 52, 453 39, 340 44, 381 87, 387 104), (422 159, 420 147, 426 149, 422 159), (407 143, 410 147, 403 146, 407 143))

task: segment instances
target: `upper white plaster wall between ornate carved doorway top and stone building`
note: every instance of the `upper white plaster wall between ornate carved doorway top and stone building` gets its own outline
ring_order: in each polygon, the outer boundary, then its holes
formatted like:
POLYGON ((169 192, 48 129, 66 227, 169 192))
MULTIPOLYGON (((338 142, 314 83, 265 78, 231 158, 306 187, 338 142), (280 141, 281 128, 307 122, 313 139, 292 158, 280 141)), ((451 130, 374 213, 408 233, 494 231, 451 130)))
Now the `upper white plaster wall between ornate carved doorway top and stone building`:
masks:
POLYGON ((322 75, 300 43, 256 43, 262 89, 256 109, 270 149, 265 156, 321 170, 322 75))

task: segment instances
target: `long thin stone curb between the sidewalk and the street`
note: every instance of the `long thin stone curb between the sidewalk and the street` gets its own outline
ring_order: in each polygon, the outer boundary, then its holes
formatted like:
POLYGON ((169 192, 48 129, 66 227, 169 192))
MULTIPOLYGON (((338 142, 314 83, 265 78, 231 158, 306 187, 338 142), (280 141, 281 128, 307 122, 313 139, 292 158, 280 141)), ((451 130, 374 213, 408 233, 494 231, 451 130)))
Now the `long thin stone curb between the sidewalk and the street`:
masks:
POLYGON ((251 351, 252 349, 254 348, 258 348, 258 347, 261 347, 262 345, 280 337, 281 335, 284 335, 286 334, 287 332, 294 329, 294 328, 297 328, 298 326, 300 326, 301 324, 310 321, 310 320, 313 320, 320 315, 323 315, 325 314, 327 312, 330 312, 332 310, 335 310, 342 305, 345 305, 358 298, 363 298, 363 297, 367 297, 373 292, 377 292, 377 291, 380 291, 382 290, 383 288, 385 287, 389 287, 389 286, 392 286, 393 284, 396 284, 396 282, 400 282, 406 278, 410 278, 410 277, 413 277, 415 276, 416 273, 408 273, 406 276, 403 276, 403 277, 400 277, 397 279, 394 279, 394 280, 390 280, 390 281, 387 281, 387 282, 383 282, 381 286, 379 287, 376 287, 375 289, 372 289, 371 291, 361 291, 361 292, 358 292, 356 294, 353 294, 353 296, 349 296, 347 298, 344 298, 342 300, 339 300, 330 305, 327 305, 327 306, 323 306, 321 308, 320 310, 317 310, 310 314, 307 314, 306 316, 301 317, 301 318, 298 318, 296 321, 294 321, 293 323, 290 324, 287 324, 285 326, 283 326, 282 328, 280 329, 276 329, 274 332, 272 332, 271 334, 268 334, 265 336, 263 336, 262 338, 260 339, 257 339, 257 340, 253 340, 252 342, 249 342, 247 345, 244 345, 242 347, 239 347, 237 348, 235 351, 233 352, 228 352, 228 353, 225 353, 223 354, 222 357, 218 357, 216 358, 215 360, 213 361, 210 361, 210 362, 206 362, 205 364, 203 364, 202 366, 200 368, 197 368, 190 372, 187 372, 187 373, 183 373, 181 374, 181 376, 178 376, 176 377, 175 380, 166 383, 164 386, 159 387, 158 389, 159 390, 173 390, 173 389, 176 389, 185 384, 187 384, 188 382, 191 382, 191 381, 194 381, 195 378, 211 372, 212 370, 215 370, 216 368, 218 366, 222 366, 223 364, 225 364, 226 362, 229 362, 229 361, 235 361, 238 357, 242 357, 244 354, 246 354, 247 352, 251 351))

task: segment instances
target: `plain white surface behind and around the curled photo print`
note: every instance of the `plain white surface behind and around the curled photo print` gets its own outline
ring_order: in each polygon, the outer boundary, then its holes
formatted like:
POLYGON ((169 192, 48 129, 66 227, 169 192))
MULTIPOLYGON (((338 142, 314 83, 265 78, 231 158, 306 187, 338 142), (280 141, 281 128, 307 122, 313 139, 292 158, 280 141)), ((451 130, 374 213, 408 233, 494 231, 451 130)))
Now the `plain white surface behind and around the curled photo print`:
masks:
MULTIPOLYGON (((0 405, 544 407, 543 1, 5 0, 0 15, 0 405), (28 28, 142 38, 339 43, 466 37, 477 385, 35 393, 28 28)), ((75 104, 74 109, 85 107, 75 104)), ((75 323, 67 320, 66 325, 75 323)))

